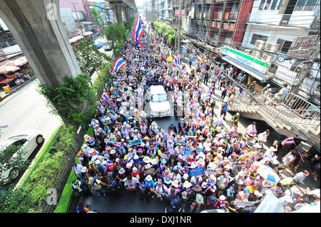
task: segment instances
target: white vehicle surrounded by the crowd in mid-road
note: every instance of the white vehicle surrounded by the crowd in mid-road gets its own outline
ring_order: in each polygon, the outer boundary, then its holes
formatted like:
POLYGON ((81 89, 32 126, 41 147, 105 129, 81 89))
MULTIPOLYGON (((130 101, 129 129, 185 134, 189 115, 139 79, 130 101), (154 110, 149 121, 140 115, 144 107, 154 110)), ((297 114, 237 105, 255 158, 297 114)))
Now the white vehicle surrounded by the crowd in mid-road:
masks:
POLYGON ((153 85, 149 91, 149 104, 153 117, 170 116, 170 103, 163 85, 153 85))

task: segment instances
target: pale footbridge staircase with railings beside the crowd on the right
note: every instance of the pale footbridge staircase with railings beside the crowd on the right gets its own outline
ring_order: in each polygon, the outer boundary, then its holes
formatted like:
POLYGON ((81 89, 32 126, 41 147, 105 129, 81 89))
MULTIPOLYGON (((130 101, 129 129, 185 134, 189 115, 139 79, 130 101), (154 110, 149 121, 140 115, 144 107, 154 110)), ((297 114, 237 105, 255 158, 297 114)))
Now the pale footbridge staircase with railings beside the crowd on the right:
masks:
POLYGON ((279 134, 297 137, 320 149, 320 109, 301 97, 290 93, 285 100, 276 103, 271 97, 253 95, 235 97, 228 110, 240 112, 242 117, 264 120, 279 134))

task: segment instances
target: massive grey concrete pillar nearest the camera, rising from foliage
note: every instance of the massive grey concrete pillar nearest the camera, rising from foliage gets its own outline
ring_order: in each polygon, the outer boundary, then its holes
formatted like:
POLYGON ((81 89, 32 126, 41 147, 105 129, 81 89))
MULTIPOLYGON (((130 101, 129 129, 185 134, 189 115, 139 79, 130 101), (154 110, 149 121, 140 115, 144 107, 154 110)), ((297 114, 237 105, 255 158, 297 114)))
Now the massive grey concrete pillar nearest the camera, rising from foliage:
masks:
POLYGON ((81 73, 61 22, 58 0, 0 0, 9 27, 41 83, 59 86, 65 75, 81 73))

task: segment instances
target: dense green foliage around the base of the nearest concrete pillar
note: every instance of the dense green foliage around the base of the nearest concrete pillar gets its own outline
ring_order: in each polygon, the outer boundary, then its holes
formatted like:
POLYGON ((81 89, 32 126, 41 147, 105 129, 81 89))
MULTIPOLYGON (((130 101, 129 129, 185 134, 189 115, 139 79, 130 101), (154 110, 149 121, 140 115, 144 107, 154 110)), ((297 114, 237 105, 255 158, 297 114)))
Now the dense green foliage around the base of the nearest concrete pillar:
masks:
POLYGON ((51 112, 61 116, 63 122, 78 126, 86 114, 86 105, 95 102, 95 95, 88 85, 88 75, 63 78, 63 85, 54 87, 49 83, 39 85, 39 93, 46 97, 51 112))

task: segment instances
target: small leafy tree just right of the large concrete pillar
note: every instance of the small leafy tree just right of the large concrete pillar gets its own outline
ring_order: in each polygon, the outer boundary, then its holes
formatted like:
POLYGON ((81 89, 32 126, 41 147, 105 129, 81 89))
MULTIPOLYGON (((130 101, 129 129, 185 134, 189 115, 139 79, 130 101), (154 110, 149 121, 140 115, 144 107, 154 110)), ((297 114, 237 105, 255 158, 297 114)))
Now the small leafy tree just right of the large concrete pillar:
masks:
POLYGON ((83 73, 90 73, 92 69, 101 70, 106 61, 111 58, 98 50, 92 40, 79 43, 78 51, 75 51, 79 67, 83 73))

